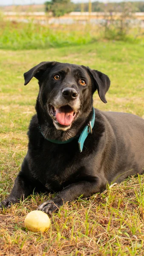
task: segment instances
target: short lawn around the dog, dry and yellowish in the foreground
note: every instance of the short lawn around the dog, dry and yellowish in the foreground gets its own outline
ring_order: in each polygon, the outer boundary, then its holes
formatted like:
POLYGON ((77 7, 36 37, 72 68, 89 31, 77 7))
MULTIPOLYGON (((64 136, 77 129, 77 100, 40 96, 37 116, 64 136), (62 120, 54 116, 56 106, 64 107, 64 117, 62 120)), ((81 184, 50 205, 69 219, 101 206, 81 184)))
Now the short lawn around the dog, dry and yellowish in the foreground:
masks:
MULTIPOLYGON (((0 201, 12 190, 27 151, 27 129, 35 113, 36 79, 23 86, 23 73, 41 61, 83 64, 106 73, 107 104, 96 92, 94 106, 144 116, 144 47, 123 42, 39 50, 0 50, 0 201)), ((49 195, 52 197, 53 195, 49 195)), ((0 255, 144 255, 144 177, 130 177, 107 194, 65 204, 47 233, 24 228, 26 214, 46 200, 32 195, 0 212, 0 255)))

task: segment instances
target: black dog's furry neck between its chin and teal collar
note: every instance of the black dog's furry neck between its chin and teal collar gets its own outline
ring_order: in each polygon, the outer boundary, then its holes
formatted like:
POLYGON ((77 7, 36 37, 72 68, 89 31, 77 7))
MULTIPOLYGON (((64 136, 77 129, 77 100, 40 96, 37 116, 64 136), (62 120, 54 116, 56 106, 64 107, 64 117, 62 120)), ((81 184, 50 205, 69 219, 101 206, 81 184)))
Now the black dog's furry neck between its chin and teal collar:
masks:
POLYGON ((44 110, 39 102, 37 101, 36 107, 37 118, 40 125, 40 129, 43 132, 45 138, 50 140, 60 140, 66 141, 72 137, 78 136, 83 131, 84 127, 88 124, 88 122, 92 119, 92 106, 89 108, 89 111, 83 113, 82 116, 78 116, 78 119, 72 123, 71 128, 67 131, 57 130, 55 125, 53 124, 52 118, 49 114, 44 110))

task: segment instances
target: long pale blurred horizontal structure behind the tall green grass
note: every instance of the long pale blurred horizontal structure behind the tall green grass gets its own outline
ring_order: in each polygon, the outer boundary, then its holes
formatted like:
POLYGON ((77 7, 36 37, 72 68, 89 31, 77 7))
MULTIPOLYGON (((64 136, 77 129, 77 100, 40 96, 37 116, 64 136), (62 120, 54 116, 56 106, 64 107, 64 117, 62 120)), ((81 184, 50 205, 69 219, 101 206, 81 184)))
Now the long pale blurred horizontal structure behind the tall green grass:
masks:
MULTIPOLYGON (((50 13, 49 13, 50 14, 50 13)), ((45 12, 4 12, 6 20, 14 20, 17 22, 29 22, 40 24, 73 24, 73 23, 87 23, 98 24, 104 22, 104 17, 111 18, 111 15, 106 12, 70 12, 63 17, 49 17, 45 12)), ((120 12, 113 12, 113 19, 117 20, 121 16, 120 12)), ((144 27, 144 12, 133 13, 135 19, 132 20, 133 24, 141 23, 144 27)))

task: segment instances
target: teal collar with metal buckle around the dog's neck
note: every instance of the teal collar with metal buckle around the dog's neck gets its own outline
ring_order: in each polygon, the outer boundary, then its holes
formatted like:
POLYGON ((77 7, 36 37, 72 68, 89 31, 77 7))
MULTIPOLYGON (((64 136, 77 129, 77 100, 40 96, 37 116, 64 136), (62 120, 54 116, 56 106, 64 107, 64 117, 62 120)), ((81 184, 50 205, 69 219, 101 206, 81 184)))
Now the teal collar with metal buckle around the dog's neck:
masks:
MULTIPOLYGON (((93 114, 92 114, 92 119, 91 121, 89 121, 88 125, 85 126, 84 130, 81 132, 81 135, 78 139, 78 148, 79 148, 79 151, 82 152, 83 151, 83 147, 84 147, 84 142, 87 138, 87 136, 89 134, 92 134, 92 128, 94 127, 94 124, 95 124, 95 109, 92 108, 92 111, 93 111, 93 114)), ((40 128, 40 125, 39 125, 39 128, 40 128)), ((43 132, 41 131, 40 129, 40 132, 41 134, 43 135, 44 137, 44 134, 43 132)), ((45 137, 44 137, 45 138, 45 137)), ((46 140, 52 142, 52 143, 56 143, 56 144, 66 144, 66 143, 69 143, 71 142, 72 140, 76 139, 78 137, 72 137, 70 138, 69 140, 65 140, 65 141, 61 141, 61 140, 50 140, 50 139, 47 139, 45 138, 46 140)))

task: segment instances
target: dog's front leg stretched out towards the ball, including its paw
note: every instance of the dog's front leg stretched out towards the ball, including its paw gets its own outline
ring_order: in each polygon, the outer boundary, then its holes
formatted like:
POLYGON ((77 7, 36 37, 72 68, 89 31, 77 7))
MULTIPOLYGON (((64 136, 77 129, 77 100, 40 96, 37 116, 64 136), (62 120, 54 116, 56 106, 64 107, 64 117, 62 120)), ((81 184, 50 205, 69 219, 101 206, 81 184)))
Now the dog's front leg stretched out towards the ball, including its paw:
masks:
POLYGON ((92 181, 79 181, 78 183, 66 186, 55 198, 40 204, 37 209, 52 215, 52 212, 58 212, 59 207, 67 201, 73 201, 81 195, 84 198, 89 197, 95 193, 104 191, 105 188, 106 183, 102 185, 97 177, 94 177, 92 181))

